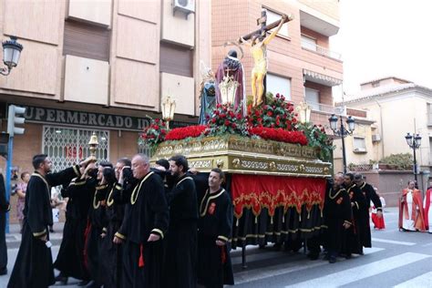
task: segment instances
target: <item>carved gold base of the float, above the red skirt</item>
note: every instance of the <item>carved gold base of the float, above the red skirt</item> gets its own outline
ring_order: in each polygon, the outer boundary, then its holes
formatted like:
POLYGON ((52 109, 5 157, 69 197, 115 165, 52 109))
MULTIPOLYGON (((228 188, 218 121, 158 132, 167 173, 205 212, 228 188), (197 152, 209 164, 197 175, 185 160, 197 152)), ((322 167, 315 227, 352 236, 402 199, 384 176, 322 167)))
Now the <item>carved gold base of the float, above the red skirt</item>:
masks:
POLYGON ((249 139, 235 135, 221 138, 184 139, 159 144, 151 164, 182 154, 190 168, 280 176, 329 177, 331 163, 316 158, 314 149, 272 140, 249 139))

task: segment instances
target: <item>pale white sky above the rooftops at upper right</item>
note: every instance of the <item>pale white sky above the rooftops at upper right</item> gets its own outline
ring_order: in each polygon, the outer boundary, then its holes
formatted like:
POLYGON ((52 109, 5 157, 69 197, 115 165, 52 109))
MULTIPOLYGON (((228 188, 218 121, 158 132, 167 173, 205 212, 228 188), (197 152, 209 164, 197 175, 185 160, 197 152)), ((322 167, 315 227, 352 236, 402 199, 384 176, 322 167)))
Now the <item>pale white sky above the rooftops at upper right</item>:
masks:
POLYGON ((340 0, 340 17, 330 47, 342 54, 346 95, 388 76, 432 88, 431 0, 340 0))

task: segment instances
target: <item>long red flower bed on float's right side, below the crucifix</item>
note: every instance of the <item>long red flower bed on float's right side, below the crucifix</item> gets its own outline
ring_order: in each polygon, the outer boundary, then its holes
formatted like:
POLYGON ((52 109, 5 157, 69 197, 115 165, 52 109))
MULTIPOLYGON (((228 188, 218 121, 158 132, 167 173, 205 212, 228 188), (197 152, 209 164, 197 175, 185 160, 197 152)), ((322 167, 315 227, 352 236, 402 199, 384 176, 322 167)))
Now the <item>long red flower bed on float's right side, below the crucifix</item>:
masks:
POLYGON ((252 127, 249 129, 249 133, 252 135, 257 135, 262 139, 300 144, 303 146, 307 145, 307 138, 303 131, 287 131, 280 128, 273 129, 267 127, 252 127))

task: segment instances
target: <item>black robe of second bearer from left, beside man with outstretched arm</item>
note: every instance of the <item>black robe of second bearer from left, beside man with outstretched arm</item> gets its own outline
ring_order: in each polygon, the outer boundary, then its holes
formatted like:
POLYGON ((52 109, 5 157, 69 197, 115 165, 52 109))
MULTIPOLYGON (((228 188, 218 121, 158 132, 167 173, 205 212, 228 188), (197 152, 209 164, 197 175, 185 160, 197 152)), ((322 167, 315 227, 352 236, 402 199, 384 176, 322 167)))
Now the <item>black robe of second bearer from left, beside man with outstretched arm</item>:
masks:
POLYGON ((54 268, 67 277, 81 280, 90 279, 85 266, 84 243, 88 210, 95 185, 95 179, 76 179, 62 190, 62 197, 68 198, 66 221, 54 268))

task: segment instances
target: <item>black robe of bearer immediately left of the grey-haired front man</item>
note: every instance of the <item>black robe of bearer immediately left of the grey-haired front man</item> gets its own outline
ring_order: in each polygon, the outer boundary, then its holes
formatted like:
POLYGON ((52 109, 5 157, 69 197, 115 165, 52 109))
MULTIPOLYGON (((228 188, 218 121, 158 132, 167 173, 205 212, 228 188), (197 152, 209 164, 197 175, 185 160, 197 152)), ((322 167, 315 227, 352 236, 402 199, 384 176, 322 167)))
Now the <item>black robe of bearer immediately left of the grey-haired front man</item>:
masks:
POLYGON ((104 273, 105 288, 119 287, 121 279, 122 245, 112 242, 124 215, 124 203, 121 199, 122 186, 115 183, 107 188, 107 206, 105 207, 107 226, 102 229, 106 236, 100 246, 100 271, 104 273))

